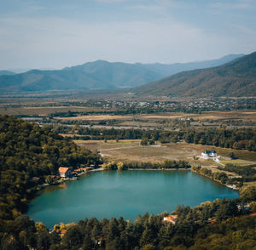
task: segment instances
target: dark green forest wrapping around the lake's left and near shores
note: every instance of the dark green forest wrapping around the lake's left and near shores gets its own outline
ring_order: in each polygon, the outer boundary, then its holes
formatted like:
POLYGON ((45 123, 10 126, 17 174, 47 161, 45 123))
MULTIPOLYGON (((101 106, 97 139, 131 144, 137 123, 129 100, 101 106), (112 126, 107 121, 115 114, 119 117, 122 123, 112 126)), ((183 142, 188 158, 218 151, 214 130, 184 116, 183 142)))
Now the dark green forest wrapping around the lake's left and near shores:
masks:
MULTIPOLYGON (((244 187, 236 200, 178 206, 177 222, 158 215, 138 215, 134 222, 119 219, 81 219, 57 224, 53 230, 26 215, 35 195, 33 177, 44 179, 58 167, 79 168, 102 163, 96 153, 79 148, 49 127, 0 116, 0 249, 253 249, 256 245, 256 188, 244 187)), ((132 165, 133 164, 133 165, 132 165)), ((148 168, 148 163, 122 168, 148 168)), ((189 168, 186 162, 166 161, 165 168, 189 168)), ((104 165, 104 164, 103 164, 104 165)), ((114 168, 120 166, 114 165, 114 168)), ((106 166, 112 169, 112 165, 106 166)), ((149 166, 160 168, 158 165, 149 166)), ((113 168, 113 169, 114 169, 113 168)), ((238 171, 238 170, 237 170, 238 171)))

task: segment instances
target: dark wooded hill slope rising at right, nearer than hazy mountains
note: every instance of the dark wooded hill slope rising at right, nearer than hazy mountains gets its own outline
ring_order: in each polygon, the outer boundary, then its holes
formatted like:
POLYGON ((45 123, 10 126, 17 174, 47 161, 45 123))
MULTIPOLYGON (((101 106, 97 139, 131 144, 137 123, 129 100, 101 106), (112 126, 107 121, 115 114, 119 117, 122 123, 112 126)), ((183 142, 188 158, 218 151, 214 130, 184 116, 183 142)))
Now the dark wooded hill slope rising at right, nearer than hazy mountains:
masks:
POLYGON ((185 71, 132 90, 170 96, 255 96, 256 52, 210 69, 185 71))

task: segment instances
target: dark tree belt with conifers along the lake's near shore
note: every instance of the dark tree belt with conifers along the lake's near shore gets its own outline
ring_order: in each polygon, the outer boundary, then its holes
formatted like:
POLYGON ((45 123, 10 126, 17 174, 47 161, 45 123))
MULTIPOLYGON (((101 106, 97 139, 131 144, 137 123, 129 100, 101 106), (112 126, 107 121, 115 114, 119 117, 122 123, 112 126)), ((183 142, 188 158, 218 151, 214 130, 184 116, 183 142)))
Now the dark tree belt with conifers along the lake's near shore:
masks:
MULTIPOLYGON (((244 202, 255 199, 255 189, 247 193, 251 196, 241 196, 246 197, 244 202)), ((163 223, 168 213, 145 213, 134 223, 120 217, 56 224, 50 233, 44 224, 33 224, 21 215, 12 224, 4 225, 1 249, 253 249, 256 217, 244 215, 247 210, 242 202, 238 208, 237 202, 241 201, 217 199, 194 208, 178 206, 173 212, 177 214, 176 224, 163 223)), ((253 202, 250 204, 255 208, 253 202)))

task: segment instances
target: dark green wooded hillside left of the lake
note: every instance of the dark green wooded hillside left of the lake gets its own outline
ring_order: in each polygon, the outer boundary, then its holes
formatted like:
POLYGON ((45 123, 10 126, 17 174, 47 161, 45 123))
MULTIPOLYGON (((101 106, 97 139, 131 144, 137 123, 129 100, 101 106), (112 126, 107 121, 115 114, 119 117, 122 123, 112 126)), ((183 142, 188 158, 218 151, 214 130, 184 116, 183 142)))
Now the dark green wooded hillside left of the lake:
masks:
POLYGON ((61 166, 101 163, 101 157, 55 134, 49 127, 0 116, 0 228, 14 219, 32 197, 34 177, 44 181, 61 166))

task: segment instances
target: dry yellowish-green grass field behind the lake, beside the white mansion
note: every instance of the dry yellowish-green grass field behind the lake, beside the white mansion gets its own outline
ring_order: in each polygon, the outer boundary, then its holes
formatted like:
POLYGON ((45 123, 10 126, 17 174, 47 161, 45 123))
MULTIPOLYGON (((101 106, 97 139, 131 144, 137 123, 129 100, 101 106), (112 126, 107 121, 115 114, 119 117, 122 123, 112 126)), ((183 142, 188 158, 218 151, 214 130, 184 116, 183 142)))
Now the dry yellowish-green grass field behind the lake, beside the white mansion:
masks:
MULTIPOLYGON (((220 156, 228 156, 230 149, 222 149, 214 146, 195 145, 182 143, 170 143, 166 145, 140 145, 140 140, 108 140, 107 143, 98 140, 75 140, 77 145, 88 148, 92 151, 100 151, 103 156, 115 161, 138 161, 138 162, 163 162, 166 159, 184 160, 192 165, 201 164, 202 166, 218 166, 218 163, 212 160, 196 160, 194 156, 201 156, 201 152, 205 150, 215 150, 220 156)), ((238 155, 237 151, 234 151, 238 155)), ((241 157, 238 160, 227 160, 228 162, 239 165, 248 165, 256 163, 256 152, 241 151, 241 157), (234 161, 234 162, 233 162, 234 161)))

